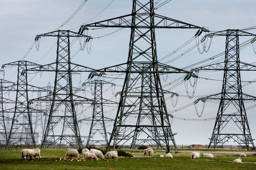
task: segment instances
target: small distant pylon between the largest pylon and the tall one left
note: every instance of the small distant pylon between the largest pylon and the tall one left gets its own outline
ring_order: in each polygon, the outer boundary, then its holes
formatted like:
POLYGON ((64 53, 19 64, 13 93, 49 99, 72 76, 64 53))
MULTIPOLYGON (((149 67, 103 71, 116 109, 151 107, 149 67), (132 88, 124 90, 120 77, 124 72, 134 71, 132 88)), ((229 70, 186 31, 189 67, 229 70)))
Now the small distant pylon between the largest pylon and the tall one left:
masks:
POLYGON ((111 82, 106 82, 104 80, 93 80, 93 81, 88 81, 83 83, 83 86, 89 85, 91 88, 93 88, 92 90, 94 92, 94 102, 92 102, 92 106, 93 106, 92 117, 79 120, 79 121, 92 122, 86 147, 94 146, 94 145, 106 146, 108 144, 108 136, 106 133, 105 122, 114 121, 114 120, 104 117, 103 105, 104 104, 117 105, 118 103, 112 102, 110 100, 106 100, 102 97, 102 88, 105 84, 110 84, 111 86, 115 86, 115 84, 111 82))

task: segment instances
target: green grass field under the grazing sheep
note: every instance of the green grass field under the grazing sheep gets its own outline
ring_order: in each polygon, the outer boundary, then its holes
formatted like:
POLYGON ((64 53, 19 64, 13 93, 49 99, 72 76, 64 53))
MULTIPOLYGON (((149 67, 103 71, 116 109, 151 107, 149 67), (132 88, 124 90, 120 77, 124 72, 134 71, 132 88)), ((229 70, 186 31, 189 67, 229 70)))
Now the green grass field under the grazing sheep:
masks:
MULTIPOLYGON (((200 150, 200 149, 199 149, 200 150)), ((165 156, 165 151, 154 149, 152 158, 144 158, 143 150, 124 150, 131 153, 133 158, 118 157, 118 161, 98 160, 78 161, 76 159, 65 158, 65 149, 41 149, 42 159, 32 161, 21 160, 20 150, 0 151, 1 170, 24 170, 24 169, 54 169, 54 170, 168 170, 168 169, 188 169, 188 170, 256 170, 255 152, 246 152, 247 157, 243 158, 242 164, 234 164, 232 161, 238 158, 241 150, 211 150, 214 158, 202 158, 198 161, 190 160, 191 150, 179 150, 180 153, 172 153, 172 158, 160 158, 160 154, 165 156), (72 160, 72 161, 71 161, 72 160)), ((207 152, 208 150, 201 150, 207 152)), ((82 154, 80 154, 82 158, 82 154)))

